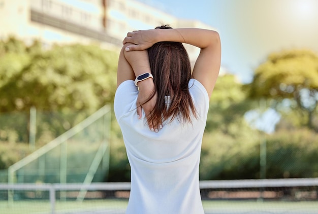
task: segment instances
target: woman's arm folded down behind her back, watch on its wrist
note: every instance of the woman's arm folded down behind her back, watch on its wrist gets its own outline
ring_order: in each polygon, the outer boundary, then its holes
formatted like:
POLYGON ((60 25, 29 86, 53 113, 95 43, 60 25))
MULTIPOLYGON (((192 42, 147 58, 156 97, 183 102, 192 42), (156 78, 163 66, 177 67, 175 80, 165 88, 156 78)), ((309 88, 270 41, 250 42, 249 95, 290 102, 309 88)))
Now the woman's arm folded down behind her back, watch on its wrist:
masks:
MULTIPOLYGON (((150 73, 150 64, 148 51, 124 51, 125 47, 132 45, 127 43, 123 46, 119 54, 118 68, 117 68, 117 87, 126 80, 135 80, 141 74, 150 73)), ((151 112, 156 103, 156 94, 150 99, 153 94, 154 83, 151 78, 138 82, 139 94, 137 98, 137 115, 140 119, 142 116, 142 109, 145 112, 148 126, 152 131, 158 131, 161 124, 153 124, 151 121, 151 112), (148 101, 147 101, 148 100, 148 101)))

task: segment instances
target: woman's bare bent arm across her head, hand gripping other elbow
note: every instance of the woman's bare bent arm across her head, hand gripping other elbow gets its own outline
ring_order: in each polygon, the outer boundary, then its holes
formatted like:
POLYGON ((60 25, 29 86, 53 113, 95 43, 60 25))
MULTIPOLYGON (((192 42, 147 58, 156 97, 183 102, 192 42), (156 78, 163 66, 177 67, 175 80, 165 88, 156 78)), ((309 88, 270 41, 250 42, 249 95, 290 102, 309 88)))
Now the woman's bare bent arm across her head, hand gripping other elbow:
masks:
POLYGON ((151 29, 129 32, 123 43, 133 43, 126 51, 145 50, 157 42, 181 42, 201 49, 196 60, 193 77, 211 97, 221 61, 219 34, 213 30, 198 28, 151 29))

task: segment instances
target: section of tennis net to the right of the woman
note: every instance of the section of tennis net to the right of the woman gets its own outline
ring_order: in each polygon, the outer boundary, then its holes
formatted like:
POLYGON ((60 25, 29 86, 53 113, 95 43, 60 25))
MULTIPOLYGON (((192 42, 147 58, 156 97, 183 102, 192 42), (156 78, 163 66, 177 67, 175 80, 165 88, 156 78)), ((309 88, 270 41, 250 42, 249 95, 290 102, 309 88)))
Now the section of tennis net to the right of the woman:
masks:
POLYGON ((318 178, 201 181, 205 213, 318 213, 318 178))

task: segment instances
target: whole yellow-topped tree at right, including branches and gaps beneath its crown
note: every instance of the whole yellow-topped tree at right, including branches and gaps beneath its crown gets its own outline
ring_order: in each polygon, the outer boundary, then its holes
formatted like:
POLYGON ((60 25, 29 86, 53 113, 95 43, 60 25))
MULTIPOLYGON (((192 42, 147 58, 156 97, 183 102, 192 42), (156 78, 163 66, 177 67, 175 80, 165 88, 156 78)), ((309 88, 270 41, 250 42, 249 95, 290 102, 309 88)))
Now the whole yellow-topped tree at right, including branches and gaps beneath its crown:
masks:
POLYGON ((318 131, 314 120, 318 104, 318 56, 310 50, 273 53, 255 72, 249 85, 251 98, 266 98, 285 114, 301 117, 298 123, 318 131), (304 119, 305 118, 305 119, 304 119))

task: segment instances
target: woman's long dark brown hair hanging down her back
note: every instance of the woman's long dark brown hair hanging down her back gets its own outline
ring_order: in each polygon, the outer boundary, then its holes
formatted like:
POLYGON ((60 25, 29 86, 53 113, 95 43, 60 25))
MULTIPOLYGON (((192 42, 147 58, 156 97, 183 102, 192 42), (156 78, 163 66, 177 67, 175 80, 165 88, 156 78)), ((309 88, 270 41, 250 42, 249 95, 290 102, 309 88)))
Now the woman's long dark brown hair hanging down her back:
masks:
MULTIPOLYGON (((169 25, 156 27, 169 29, 169 25)), ((157 101, 151 112, 153 125, 176 118, 180 122, 192 122, 191 114, 197 118, 196 109, 188 90, 191 65, 188 54, 178 42, 158 42, 148 49, 151 74, 157 101), (169 108, 165 96, 170 96, 169 108)), ((154 95, 153 94, 153 95, 154 95)))

